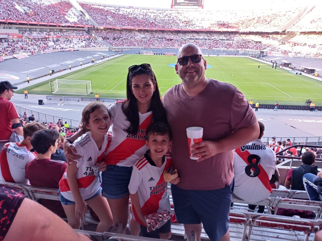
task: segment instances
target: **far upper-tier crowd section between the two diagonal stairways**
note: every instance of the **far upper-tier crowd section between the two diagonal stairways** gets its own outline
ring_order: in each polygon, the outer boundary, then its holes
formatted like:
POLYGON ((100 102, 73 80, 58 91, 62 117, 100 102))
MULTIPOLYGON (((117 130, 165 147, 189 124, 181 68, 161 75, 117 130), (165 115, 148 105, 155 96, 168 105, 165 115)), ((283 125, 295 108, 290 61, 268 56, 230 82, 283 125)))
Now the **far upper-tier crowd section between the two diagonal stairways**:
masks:
POLYGON ((99 26, 166 29, 240 29, 280 31, 302 8, 288 6, 277 15, 274 7, 257 11, 151 10, 81 4, 99 26), (135 21, 133 21, 135 20, 135 21))

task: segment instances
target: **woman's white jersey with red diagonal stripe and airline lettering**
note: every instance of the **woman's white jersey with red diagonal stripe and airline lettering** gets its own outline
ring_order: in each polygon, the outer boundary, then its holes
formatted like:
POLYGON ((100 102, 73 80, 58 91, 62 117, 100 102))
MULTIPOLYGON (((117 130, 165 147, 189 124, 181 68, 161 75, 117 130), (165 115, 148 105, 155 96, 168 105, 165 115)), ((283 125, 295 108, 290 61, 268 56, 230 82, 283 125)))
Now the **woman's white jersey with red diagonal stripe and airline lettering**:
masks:
POLYGON ((147 151, 145 132, 152 122, 152 112, 139 114, 139 129, 137 134, 128 134, 125 131, 130 122, 122 111, 122 103, 117 101, 109 106, 111 124, 113 124, 113 141, 107 150, 104 160, 107 165, 133 166, 147 151))

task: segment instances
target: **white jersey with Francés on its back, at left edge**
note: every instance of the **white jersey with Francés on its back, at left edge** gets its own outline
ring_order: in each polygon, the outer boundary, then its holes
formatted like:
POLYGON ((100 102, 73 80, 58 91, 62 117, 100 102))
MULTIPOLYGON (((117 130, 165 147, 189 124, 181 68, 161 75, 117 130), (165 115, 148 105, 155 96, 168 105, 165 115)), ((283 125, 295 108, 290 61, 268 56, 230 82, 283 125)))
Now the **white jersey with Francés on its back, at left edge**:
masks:
POLYGON ((9 142, 2 148, 0 156, 1 181, 9 183, 29 184, 25 178, 27 162, 36 158, 36 154, 19 143, 9 142))

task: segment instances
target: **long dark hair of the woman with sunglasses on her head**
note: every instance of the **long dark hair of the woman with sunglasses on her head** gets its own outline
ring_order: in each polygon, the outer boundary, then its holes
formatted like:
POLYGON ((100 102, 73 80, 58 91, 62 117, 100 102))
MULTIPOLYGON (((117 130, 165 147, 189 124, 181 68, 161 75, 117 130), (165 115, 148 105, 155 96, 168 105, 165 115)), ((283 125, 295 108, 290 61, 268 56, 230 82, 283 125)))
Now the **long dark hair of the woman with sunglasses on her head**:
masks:
POLYGON ((156 76, 151 68, 142 69, 139 67, 136 71, 128 72, 126 95, 127 101, 122 104, 122 110, 131 125, 125 129, 129 134, 137 134, 139 129, 139 113, 137 108, 137 99, 132 93, 132 79, 137 75, 147 75, 151 79, 152 83, 156 86, 156 90, 152 94, 151 105, 148 111, 152 111, 152 123, 154 122, 165 122, 166 121, 166 109, 161 101, 161 95, 156 82, 156 76))

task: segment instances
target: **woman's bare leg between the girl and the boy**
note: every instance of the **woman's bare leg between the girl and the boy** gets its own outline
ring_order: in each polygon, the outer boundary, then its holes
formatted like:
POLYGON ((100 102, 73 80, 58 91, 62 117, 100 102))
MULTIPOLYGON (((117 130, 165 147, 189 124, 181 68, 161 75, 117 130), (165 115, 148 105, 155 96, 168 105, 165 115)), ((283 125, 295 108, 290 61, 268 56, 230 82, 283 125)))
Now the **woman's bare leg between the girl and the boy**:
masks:
POLYGON ((126 225, 128 224, 128 198, 129 195, 118 199, 107 199, 114 223, 122 224, 122 234, 125 234, 126 225))

